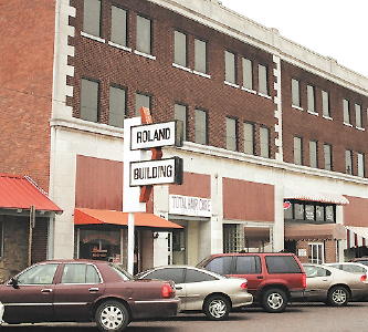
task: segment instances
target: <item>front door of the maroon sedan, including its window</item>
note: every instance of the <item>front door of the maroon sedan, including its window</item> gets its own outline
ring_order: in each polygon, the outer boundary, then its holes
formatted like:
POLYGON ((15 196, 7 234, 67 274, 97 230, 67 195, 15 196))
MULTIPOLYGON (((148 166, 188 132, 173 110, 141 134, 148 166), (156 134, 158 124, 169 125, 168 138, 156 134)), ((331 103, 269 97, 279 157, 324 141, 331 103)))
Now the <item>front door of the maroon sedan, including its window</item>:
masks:
POLYGON ((6 322, 46 322, 53 318, 54 278, 59 263, 40 263, 17 276, 17 288, 1 291, 6 322))

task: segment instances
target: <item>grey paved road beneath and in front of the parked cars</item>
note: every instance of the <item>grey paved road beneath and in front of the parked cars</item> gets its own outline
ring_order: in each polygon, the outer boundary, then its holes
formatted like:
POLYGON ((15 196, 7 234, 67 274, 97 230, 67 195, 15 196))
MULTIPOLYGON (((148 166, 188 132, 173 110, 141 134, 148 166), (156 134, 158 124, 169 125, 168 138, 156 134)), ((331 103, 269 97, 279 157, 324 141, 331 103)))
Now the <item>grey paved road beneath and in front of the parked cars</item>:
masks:
MULTIPOLYGON (((2 326, 1 332, 96 332, 94 324, 2 326)), ((346 308, 320 303, 293 304, 286 312, 270 314, 257 308, 233 312, 229 321, 211 322, 202 314, 180 314, 167 321, 134 322, 126 332, 351 332, 368 331, 368 302, 346 308)))

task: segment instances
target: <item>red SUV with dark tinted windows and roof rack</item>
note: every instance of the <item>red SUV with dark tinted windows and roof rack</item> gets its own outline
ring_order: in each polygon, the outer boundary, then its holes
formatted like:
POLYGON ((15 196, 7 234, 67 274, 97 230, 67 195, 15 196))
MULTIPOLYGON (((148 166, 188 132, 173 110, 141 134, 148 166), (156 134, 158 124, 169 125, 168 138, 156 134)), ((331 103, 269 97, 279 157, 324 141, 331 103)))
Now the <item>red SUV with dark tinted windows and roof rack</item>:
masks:
POLYGON ((283 312, 287 302, 303 297, 304 269, 293 253, 219 253, 197 267, 248 279, 248 291, 267 312, 283 312))

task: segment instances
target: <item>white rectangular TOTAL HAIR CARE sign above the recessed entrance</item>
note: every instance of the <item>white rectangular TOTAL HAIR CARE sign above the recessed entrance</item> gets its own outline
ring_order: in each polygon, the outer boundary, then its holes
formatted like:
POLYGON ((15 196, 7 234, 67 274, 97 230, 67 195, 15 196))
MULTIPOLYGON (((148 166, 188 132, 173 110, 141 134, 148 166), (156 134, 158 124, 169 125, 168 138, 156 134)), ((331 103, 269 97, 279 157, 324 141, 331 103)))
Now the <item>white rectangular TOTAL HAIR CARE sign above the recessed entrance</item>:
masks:
POLYGON ((169 195, 169 214, 193 217, 211 217, 211 199, 169 195))

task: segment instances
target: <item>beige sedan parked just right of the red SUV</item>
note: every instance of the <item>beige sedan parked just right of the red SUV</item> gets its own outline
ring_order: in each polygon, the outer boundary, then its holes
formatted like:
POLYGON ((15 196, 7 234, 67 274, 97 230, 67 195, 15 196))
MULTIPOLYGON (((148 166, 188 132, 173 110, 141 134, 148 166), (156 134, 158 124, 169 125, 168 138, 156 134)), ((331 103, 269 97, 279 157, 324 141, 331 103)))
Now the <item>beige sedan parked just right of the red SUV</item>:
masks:
POLYGON ((303 264, 307 276, 304 300, 341 307, 367 295, 367 276, 345 272, 323 264, 303 264))

